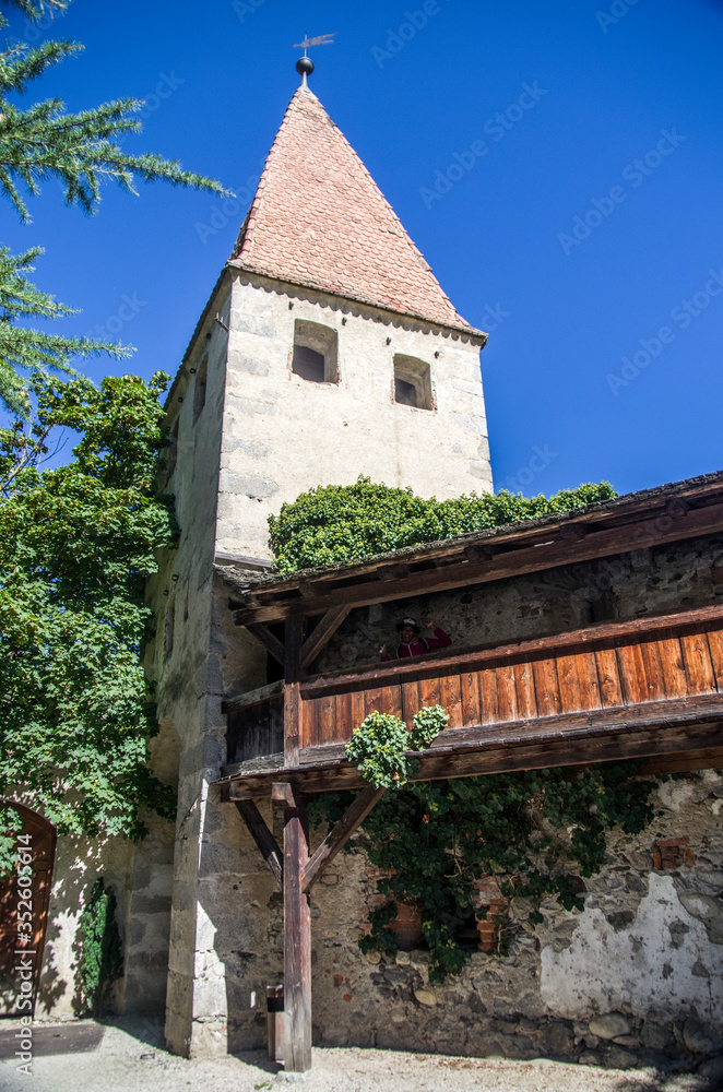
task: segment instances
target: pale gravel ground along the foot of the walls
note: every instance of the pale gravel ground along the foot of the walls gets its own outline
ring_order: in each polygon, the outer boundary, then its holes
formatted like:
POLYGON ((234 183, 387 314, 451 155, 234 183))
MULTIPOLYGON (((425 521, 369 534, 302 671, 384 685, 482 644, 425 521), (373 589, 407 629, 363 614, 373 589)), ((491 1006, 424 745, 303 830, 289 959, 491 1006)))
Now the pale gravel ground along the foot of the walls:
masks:
MULTIPOLYGON (((88 1022, 90 1023, 90 1022, 88 1022)), ((90 1029, 88 1029, 90 1031, 90 1029)), ((19 1073, 15 1060, 0 1060, 2 1092, 260 1092, 281 1089, 265 1054, 254 1053, 216 1061, 187 1061, 158 1045, 158 1028, 150 1022, 122 1020, 107 1024, 99 1046, 88 1049, 92 1036, 78 1036, 74 1053, 44 1053, 52 1029, 38 1035, 32 1076, 19 1073), (45 1043, 45 1047, 44 1044, 45 1043)), ((59 1037, 57 1033, 55 1037, 59 1037)), ((3 1052, 7 1055, 7 1051, 3 1052)), ((719 1059, 719 1061, 722 1059, 719 1059)), ((691 1075, 659 1075, 652 1070, 596 1069, 555 1061, 510 1061, 503 1058, 454 1058, 357 1048, 313 1052, 309 1092, 703 1092, 723 1088, 723 1066, 713 1079, 691 1075)), ((712 1077, 712 1073, 711 1073, 712 1077)))

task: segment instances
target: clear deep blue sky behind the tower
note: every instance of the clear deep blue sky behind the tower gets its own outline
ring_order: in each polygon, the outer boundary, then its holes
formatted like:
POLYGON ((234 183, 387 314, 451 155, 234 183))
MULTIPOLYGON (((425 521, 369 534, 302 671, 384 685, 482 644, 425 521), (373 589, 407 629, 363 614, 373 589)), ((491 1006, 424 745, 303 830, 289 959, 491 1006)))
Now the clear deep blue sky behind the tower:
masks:
MULTIPOLYGON (((29 226, 5 203, 3 241, 44 246, 36 282, 83 309, 63 327, 137 346, 125 370, 176 371, 298 85, 305 31, 336 32, 312 90, 460 313, 490 331, 497 488, 628 491, 720 468, 716 0, 74 0, 54 33, 85 51, 28 97, 145 98, 128 146, 237 200, 108 187, 87 218, 48 182, 29 226)), ((9 33, 35 32, 13 16, 9 33)))

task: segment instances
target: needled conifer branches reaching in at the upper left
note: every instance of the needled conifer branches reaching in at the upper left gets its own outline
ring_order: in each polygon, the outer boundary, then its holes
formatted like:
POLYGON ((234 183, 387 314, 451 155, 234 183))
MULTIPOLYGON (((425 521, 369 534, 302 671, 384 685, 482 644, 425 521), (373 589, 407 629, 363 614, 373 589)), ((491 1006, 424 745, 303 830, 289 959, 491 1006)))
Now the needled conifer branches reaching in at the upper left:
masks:
MULTIPOLYGON (((61 15, 69 0, 0 0, 5 9, 20 9, 37 23, 49 11, 61 15)), ((0 13, 0 26, 8 20, 0 13)), ((5 43, 0 51, 0 190, 21 219, 29 221, 24 192, 39 193, 40 185, 56 179, 66 192, 66 204, 94 213, 103 182, 115 182, 135 192, 135 181, 163 180, 173 186, 223 193, 213 179, 185 170, 176 161, 151 153, 133 153, 120 141, 141 130, 138 111, 143 103, 120 98, 81 112, 69 112, 58 98, 22 108, 19 99, 49 68, 82 50, 76 41, 48 40, 37 47, 5 43)), ((57 319, 73 310, 40 292, 25 274, 42 253, 34 248, 13 256, 0 247, 0 401, 13 413, 29 413, 28 376, 76 376, 71 360, 100 353, 125 356, 112 342, 49 334, 19 324, 27 317, 57 319)))

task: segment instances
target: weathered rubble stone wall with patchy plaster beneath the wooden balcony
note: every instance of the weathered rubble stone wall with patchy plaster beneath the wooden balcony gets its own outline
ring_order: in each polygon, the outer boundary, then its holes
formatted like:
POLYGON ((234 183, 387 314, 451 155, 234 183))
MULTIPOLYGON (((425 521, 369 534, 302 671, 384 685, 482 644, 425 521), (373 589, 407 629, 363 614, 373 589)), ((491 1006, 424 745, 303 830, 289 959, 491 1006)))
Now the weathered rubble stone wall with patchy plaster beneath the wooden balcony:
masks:
MULTIPOLYGON (((312 892, 315 1042, 620 1068, 714 1055, 723 1048, 723 775, 666 781, 654 803, 640 835, 611 835, 602 871, 582 880, 583 913, 549 900, 532 926, 531 907, 513 900, 509 956, 475 951, 443 985, 429 984, 422 948, 395 958, 359 951, 376 889, 357 835, 312 892)), ((228 1044, 240 1049, 264 1042, 265 987, 282 981, 282 911, 233 810, 208 973, 223 965, 228 1044)))

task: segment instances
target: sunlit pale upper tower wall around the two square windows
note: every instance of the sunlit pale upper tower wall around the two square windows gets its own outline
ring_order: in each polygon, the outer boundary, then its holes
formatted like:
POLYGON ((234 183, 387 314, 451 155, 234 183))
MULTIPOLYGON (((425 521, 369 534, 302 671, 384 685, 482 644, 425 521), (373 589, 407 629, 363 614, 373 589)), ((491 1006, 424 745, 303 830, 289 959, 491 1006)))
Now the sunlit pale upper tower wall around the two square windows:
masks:
POLYGON ((316 485, 351 485, 359 474, 440 499, 491 490, 479 344, 332 296, 237 276, 218 549, 269 557, 266 519, 284 501, 316 485), (296 320, 336 332, 337 383, 292 371, 296 320), (434 410, 394 403, 396 354, 430 366, 434 410))

